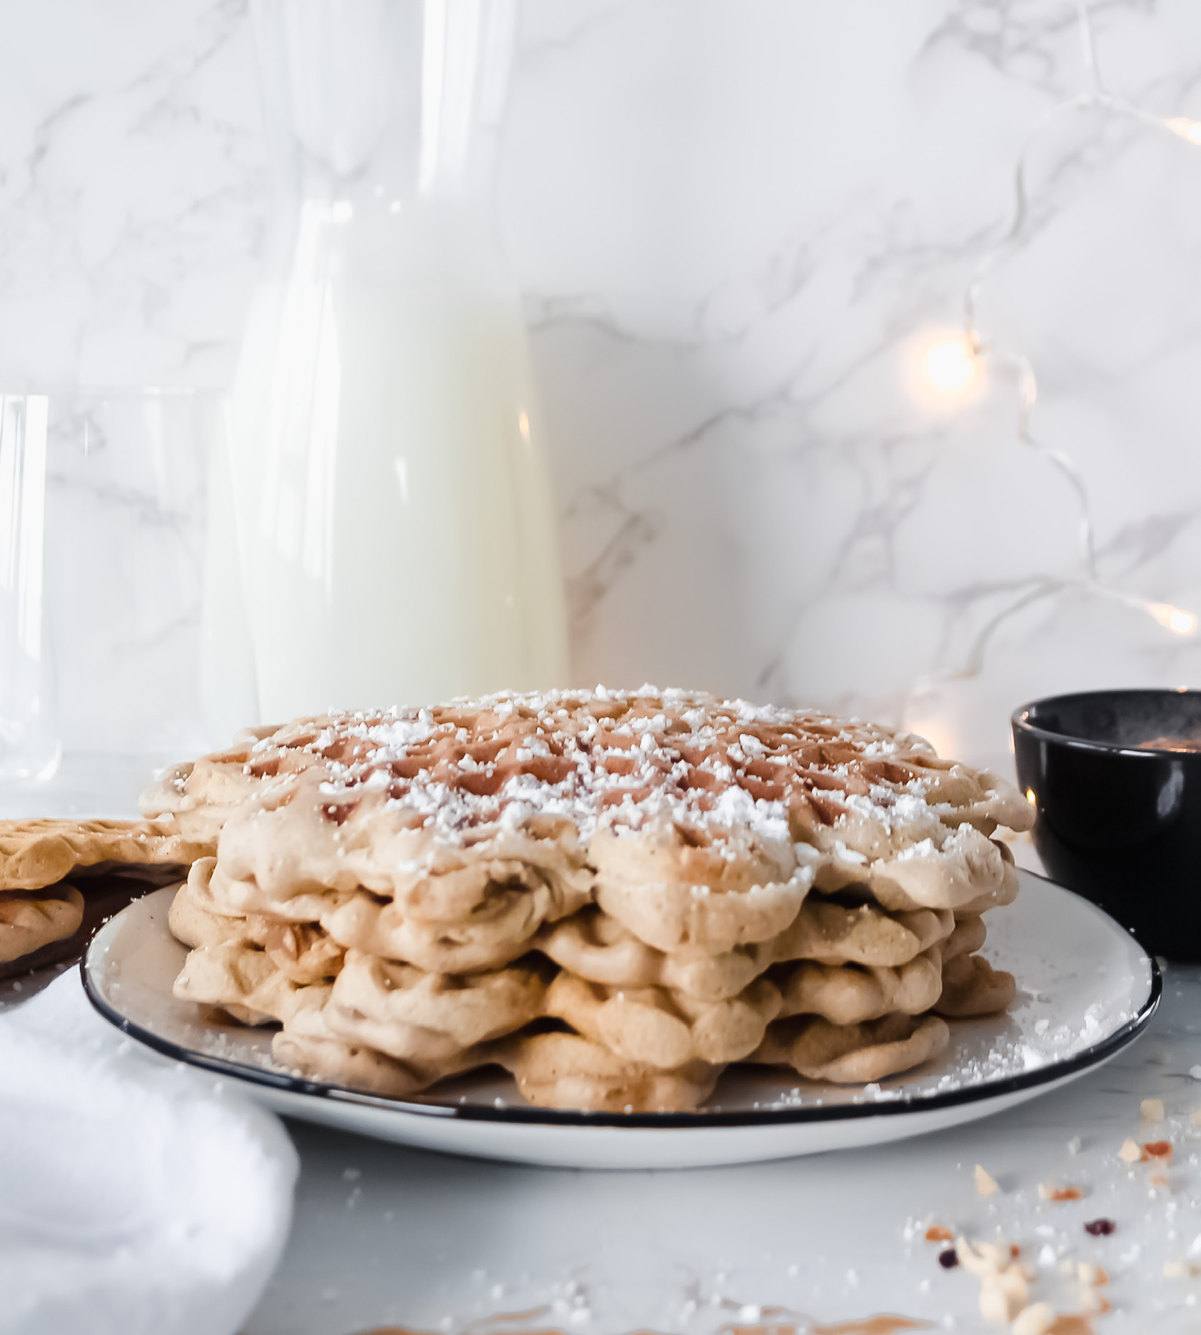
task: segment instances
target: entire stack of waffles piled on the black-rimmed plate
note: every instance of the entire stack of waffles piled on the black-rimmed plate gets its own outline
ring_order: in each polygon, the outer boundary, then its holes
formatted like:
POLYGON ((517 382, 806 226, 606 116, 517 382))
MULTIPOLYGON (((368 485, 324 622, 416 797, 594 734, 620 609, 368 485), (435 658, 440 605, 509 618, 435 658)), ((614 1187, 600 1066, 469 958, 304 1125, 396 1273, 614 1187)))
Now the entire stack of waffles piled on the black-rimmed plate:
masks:
POLYGON ((407 1096, 681 1111, 729 1063, 880 1080, 1003 1009, 977 952, 1033 813, 919 737, 684 692, 552 692, 239 734, 143 798, 216 857, 175 991, 281 1064, 407 1096))

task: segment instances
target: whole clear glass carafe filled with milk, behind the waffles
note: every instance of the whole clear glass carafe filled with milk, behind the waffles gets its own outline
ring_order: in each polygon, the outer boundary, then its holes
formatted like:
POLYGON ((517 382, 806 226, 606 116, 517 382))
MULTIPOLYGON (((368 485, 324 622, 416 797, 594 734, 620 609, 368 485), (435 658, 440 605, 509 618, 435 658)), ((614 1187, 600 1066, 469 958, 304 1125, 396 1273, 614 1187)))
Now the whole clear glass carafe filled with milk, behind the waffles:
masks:
POLYGON ((236 542, 210 571, 231 609, 240 583, 258 713, 561 685, 550 483, 493 232, 512 4, 251 12, 283 203, 214 503, 236 542))

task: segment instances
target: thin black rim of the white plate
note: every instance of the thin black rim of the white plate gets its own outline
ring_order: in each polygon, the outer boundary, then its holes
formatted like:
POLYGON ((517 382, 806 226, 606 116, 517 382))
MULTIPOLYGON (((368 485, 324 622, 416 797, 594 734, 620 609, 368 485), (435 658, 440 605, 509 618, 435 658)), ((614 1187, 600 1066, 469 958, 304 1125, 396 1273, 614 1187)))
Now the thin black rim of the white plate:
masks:
MULTIPOLYGON (((1038 873, 1031 872, 1031 876, 1038 873)), ((1038 880, 1047 880, 1038 877, 1038 880)), ((1054 882, 1050 882, 1054 884, 1054 882)), ((1062 886, 1061 886, 1062 889, 1062 886)), ((1071 892, 1067 892, 1071 893, 1071 892)), ((1109 917, 1103 909, 1085 900, 1091 909, 1109 917)), ((138 901, 130 908, 136 908, 138 901)), ((122 913, 127 913, 123 909, 122 913)), ((118 914, 120 917, 120 914, 118 914)), ((1113 921, 1110 918, 1110 921, 1113 921)), ((106 924, 107 925, 107 924, 106 924)), ((1114 922, 1117 930, 1125 930, 1114 922)), ((99 934, 99 933, 98 933, 99 934)), ((387 1099, 381 1095, 362 1093, 357 1089, 347 1089, 345 1085, 322 1084, 317 1080, 305 1080, 301 1076, 287 1075, 283 1071, 267 1071, 263 1067, 248 1067, 239 1061, 227 1061, 222 1057, 210 1057, 194 1048, 180 1047, 162 1035, 127 1020, 119 1011, 111 1007, 100 996, 92 983, 88 969, 95 937, 88 944, 83 959, 79 961, 79 972, 83 977, 83 988, 88 1000, 123 1033, 136 1039, 146 1047, 160 1052, 175 1061, 183 1061, 190 1067, 199 1067, 202 1071, 219 1076, 232 1076, 248 1084, 263 1085, 287 1093, 309 1095, 317 1099, 329 1099, 335 1103, 355 1104, 362 1108, 381 1108, 390 1112, 414 1113, 421 1117, 444 1117, 458 1121, 492 1121, 513 1123, 540 1127, 624 1127, 624 1128, 675 1128, 700 1131, 711 1127, 768 1127, 787 1123, 812 1121, 846 1121, 852 1117, 888 1117, 904 1116, 914 1112, 936 1112, 942 1108, 955 1108, 963 1104, 979 1103, 985 1099, 999 1099, 1005 1095, 1019 1093, 1023 1089, 1034 1089, 1039 1085, 1054 1084, 1067 1076, 1077 1075, 1097 1067, 1109 1057, 1116 1056, 1129 1043, 1133 1043, 1148 1027, 1152 1016, 1160 1005, 1164 991, 1164 980, 1156 957, 1148 952, 1146 960, 1150 965, 1152 985, 1146 1000, 1138 1013, 1116 1029, 1107 1039, 1085 1048, 1074 1057, 1062 1061, 1053 1061, 1039 1067, 1037 1071, 1023 1072, 1017 1076, 1006 1076, 1002 1080, 983 1080, 979 1084, 962 1089, 950 1089, 946 1093, 932 1095, 899 1095, 886 1100, 870 1100, 867 1103, 834 1104, 831 1107, 810 1108, 752 1108, 745 1112, 724 1112, 715 1108, 712 1112, 581 1112, 569 1108, 530 1108, 514 1104, 505 1104, 501 1108, 486 1104, 449 1104, 449 1103, 418 1103, 411 1099, 387 1099)), ((799 1079, 799 1077, 798 1077, 799 1079)))

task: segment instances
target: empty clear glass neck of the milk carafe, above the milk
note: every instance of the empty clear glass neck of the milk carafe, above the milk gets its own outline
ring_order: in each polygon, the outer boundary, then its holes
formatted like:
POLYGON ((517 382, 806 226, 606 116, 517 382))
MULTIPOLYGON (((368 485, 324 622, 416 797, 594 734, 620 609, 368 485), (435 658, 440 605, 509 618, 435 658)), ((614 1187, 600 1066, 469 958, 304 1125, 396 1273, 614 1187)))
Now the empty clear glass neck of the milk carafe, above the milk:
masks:
POLYGON ((335 215, 490 200, 513 0, 252 0, 278 184, 335 215))

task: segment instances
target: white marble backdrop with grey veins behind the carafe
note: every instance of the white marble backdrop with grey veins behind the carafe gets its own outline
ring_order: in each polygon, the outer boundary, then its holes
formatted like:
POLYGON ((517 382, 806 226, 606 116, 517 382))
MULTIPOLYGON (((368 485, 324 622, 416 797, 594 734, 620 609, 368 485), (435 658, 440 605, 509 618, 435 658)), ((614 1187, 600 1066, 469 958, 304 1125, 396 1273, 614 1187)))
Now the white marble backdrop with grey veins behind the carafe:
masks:
MULTIPOLYGON (((226 384, 269 208, 243 4, 0 13, 0 384, 226 384)), ((1116 93, 1201 117, 1201 7, 1094 19, 1116 93)), ((1014 372, 922 371, 1027 136, 1085 87, 1061 0, 524 0, 501 204, 576 680, 816 702, 979 758, 1033 696, 1201 685, 1201 638, 1073 585, 1079 510, 1018 438, 1014 372)), ((1201 611, 1201 147, 1082 109, 1029 168, 979 330, 1037 371, 1101 577, 1201 611)), ((187 672, 188 597, 123 673, 187 672)), ((68 742, 104 730, 107 670, 64 685, 68 742)))

